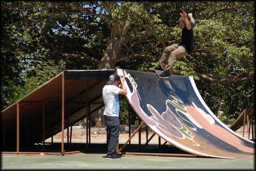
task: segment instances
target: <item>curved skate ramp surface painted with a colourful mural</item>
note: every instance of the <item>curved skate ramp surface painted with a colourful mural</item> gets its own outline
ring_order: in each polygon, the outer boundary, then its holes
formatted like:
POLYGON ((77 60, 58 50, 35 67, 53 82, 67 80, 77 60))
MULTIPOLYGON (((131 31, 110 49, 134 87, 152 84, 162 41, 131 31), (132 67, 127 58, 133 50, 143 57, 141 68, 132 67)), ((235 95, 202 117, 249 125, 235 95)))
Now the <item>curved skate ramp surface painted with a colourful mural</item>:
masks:
POLYGON ((198 156, 234 159, 254 155, 255 143, 224 125, 207 107, 192 77, 117 69, 138 116, 161 138, 198 156))

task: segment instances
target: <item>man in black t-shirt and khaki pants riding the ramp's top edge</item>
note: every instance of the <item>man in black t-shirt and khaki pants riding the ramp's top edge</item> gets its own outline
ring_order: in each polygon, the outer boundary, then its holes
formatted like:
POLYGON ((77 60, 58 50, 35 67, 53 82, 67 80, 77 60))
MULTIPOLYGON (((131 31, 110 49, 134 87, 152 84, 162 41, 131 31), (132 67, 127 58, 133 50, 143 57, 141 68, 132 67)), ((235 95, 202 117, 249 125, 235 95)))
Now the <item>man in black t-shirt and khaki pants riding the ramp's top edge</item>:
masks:
POLYGON ((182 29, 181 43, 168 46, 164 49, 162 57, 160 59, 160 65, 155 67, 157 70, 164 70, 159 76, 166 77, 171 75, 172 66, 175 61, 179 60, 182 56, 189 55, 195 46, 193 27, 195 26, 195 20, 192 17, 192 13, 188 13, 190 23, 185 11, 180 13, 179 26, 182 29), (170 58, 169 62, 168 59, 170 58))

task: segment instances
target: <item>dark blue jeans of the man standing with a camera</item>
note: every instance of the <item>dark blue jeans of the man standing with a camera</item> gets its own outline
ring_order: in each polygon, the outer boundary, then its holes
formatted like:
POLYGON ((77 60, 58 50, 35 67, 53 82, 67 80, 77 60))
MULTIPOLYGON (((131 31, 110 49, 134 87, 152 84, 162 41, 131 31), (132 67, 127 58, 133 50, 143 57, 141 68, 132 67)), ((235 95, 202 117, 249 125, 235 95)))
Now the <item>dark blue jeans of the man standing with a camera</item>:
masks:
POLYGON ((119 117, 104 115, 108 127, 108 153, 116 153, 116 145, 119 138, 119 117))

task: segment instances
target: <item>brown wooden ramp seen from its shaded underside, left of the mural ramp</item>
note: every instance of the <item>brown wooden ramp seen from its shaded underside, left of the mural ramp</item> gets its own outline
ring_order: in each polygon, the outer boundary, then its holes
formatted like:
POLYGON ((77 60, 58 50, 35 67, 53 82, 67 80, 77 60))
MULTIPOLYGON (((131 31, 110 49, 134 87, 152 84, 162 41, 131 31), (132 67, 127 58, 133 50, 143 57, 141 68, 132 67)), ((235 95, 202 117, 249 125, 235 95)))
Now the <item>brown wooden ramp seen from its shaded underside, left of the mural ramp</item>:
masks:
POLYGON ((86 117, 87 99, 91 113, 104 106, 102 88, 114 69, 64 70, 48 82, 1 111, 1 140, 5 150, 16 151, 17 105, 19 104, 20 150, 41 143, 62 131, 62 95, 65 129, 86 117), (62 75, 64 93, 62 93, 62 75), (88 93, 87 93, 88 90, 88 93), (44 104, 44 105, 43 105, 44 104), (43 107, 44 106, 44 107, 43 107), (45 108, 45 134, 43 134, 45 108))

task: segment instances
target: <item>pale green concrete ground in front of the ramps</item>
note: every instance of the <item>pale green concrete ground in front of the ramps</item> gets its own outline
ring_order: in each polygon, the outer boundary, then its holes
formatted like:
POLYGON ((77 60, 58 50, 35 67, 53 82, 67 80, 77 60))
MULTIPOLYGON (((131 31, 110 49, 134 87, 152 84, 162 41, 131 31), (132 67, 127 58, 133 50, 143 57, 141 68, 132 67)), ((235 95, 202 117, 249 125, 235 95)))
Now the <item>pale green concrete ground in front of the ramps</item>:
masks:
POLYGON ((126 155, 106 160, 106 153, 67 155, 1 154, 1 170, 255 170, 255 156, 237 159, 126 155))

